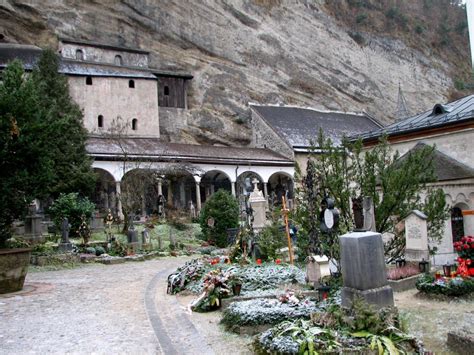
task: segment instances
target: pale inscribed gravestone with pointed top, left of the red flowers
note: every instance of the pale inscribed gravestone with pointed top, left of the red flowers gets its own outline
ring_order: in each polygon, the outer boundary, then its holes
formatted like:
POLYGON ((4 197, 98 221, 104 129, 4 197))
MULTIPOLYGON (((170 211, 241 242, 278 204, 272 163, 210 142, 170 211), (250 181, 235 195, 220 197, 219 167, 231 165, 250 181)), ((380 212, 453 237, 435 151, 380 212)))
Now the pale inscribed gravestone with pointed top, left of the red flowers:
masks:
POLYGON ((406 261, 429 260, 427 218, 418 210, 405 218, 406 261))

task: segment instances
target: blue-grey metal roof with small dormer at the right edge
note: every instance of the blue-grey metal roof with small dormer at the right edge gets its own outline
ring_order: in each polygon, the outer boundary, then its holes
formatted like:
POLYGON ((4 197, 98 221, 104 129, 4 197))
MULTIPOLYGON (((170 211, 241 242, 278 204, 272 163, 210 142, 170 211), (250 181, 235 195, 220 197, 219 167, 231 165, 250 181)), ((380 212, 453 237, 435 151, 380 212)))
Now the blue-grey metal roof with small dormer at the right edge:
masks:
POLYGON ((363 134, 354 134, 352 138, 370 140, 384 134, 388 136, 403 135, 462 123, 474 119, 474 95, 463 97, 459 100, 441 105, 436 104, 433 109, 395 122, 387 127, 367 131, 363 134))

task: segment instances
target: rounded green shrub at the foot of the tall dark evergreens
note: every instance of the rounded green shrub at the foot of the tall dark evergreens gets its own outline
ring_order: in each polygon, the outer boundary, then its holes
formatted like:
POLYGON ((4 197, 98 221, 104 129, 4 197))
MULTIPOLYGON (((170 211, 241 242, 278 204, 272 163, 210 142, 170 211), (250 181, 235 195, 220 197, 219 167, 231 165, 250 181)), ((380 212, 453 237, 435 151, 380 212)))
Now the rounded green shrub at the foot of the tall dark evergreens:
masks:
POLYGON ((60 194, 53 202, 48 212, 56 226, 57 231, 61 231, 63 218, 66 217, 71 225, 70 236, 78 237, 77 231, 81 225, 82 215, 87 219, 92 217, 95 204, 87 197, 79 197, 78 193, 60 194))

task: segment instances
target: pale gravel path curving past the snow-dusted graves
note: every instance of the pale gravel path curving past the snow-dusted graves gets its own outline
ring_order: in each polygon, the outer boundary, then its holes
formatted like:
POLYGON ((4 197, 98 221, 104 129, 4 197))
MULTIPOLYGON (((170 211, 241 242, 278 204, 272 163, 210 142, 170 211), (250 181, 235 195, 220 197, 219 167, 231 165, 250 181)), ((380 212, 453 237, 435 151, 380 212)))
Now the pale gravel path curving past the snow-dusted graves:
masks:
POLYGON ((0 354, 214 354, 223 340, 226 352, 247 353, 218 314, 191 314, 166 294, 186 260, 30 272, 22 292, 0 295, 0 354))

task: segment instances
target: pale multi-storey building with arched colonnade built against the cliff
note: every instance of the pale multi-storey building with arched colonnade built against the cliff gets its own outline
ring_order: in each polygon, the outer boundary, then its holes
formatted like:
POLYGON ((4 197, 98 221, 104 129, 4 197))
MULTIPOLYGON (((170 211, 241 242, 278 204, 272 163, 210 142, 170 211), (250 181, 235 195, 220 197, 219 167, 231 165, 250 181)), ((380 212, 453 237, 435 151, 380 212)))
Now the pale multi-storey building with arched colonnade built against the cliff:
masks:
MULTIPOLYGON (((35 46, 0 44, 0 70, 15 58, 31 70, 40 53, 35 46)), ((264 191, 275 176, 292 184, 293 160, 268 148, 178 144, 160 136, 161 128, 185 117, 192 75, 149 67, 149 53, 141 49, 61 39, 58 53, 90 135, 102 211, 120 215, 127 195, 139 195, 136 212, 150 214, 161 195, 170 208, 199 212, 219 188, 243 196, 255 178, 264 191), (140 191, 132 186, 138 182, 140 191)))

